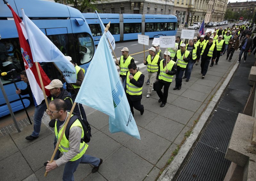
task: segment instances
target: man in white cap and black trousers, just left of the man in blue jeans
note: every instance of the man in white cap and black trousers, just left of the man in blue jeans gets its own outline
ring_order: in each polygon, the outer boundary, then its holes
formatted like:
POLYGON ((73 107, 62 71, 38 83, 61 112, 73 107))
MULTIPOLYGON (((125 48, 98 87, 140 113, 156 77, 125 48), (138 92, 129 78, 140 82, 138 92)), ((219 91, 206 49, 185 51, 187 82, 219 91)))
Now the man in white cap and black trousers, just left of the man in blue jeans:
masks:
POLYGON ((182 76, 187 67, 189 60, 192 59, 192 56, 188 50, 186 50, 185 43, 180 45, 180 50, 178 50, 173 58, 173 61, 177 64, 177 72, 175 78, 175 87, 173 90, 180 90, 182 84, 182 76))

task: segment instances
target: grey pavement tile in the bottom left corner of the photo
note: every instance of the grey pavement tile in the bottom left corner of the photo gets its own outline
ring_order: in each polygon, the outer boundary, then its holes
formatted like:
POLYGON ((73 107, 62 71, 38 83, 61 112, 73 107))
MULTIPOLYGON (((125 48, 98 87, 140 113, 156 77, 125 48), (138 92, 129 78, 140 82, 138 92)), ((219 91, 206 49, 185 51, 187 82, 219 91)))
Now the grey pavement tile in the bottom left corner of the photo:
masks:
POLYGON ((20 152, 0 161, 1 181, 20 181, 33 173, 25 158, 20 152))

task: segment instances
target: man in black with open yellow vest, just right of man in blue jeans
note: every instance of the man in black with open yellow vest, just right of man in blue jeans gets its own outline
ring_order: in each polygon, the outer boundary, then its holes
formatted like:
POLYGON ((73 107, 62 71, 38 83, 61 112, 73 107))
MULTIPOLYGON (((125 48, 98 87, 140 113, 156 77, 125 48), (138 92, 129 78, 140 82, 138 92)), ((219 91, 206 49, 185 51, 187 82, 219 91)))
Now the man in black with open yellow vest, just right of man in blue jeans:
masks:
POLYGON ((212 59, 212 62, 216 59, 216 45, 213 43, 213 36, 210 36, 208 43, 205 43, 202 47, 201 51, 201 72, 202 79, 204 79, 204 76, 208 70, 208 66, 210 63, 210 60, 212 59))

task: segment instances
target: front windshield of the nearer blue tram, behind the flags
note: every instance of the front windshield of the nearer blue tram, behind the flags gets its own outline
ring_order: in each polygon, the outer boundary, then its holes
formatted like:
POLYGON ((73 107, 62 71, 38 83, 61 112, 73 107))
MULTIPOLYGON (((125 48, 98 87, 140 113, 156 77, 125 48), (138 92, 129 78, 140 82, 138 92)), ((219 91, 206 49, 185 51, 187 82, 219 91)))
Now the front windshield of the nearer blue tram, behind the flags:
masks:
POLYGON ((90 62, 94 54, 94 43, 92 37, 88 33, 76 33, 74 34, 74 43, 76 51, 78 51, 79 57, 76 63, 78 65, 90 62))

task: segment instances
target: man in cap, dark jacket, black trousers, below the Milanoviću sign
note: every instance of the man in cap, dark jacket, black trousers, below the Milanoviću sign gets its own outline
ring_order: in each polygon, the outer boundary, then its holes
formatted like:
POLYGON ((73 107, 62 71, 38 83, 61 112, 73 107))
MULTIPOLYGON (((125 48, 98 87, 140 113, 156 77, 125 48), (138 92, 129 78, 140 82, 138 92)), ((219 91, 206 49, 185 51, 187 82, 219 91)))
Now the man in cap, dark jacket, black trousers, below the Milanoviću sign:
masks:
POLYGON ((164 52, 164 59, 160 61, 158 67, 158 81, 154 84, 155 91, 159 97, 158 102, 162 102, 160 107, 164 107, 167 102, 168 90, 172 83, 173 76, 177 72, 177 65, 171 60, 170 56, 170 52, 164 52), (163 86, 164 92, 161 91, 163 86))

